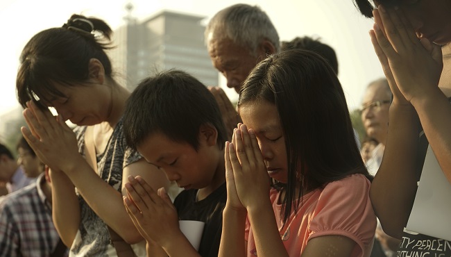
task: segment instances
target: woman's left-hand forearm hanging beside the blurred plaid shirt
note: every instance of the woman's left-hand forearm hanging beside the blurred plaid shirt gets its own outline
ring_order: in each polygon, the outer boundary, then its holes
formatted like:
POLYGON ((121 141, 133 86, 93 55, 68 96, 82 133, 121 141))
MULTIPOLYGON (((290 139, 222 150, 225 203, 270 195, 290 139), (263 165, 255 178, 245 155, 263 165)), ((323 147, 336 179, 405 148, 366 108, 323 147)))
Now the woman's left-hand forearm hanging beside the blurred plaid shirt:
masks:
POLYGON ((80 205, 66 174, 51 172, 52 218, 62 242, 71 247, 80 225, 80 205))

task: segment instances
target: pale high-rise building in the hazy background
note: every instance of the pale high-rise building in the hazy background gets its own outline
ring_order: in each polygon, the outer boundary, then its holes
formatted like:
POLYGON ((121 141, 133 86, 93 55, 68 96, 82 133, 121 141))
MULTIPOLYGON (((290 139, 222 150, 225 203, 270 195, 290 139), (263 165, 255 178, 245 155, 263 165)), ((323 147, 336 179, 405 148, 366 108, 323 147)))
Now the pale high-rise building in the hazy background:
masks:
POLYGON ((168 10, 142 22, 126 17, 126 24, 114 31, 115 47, 109 53, 116 78, 133 90, 155 72, 182 69, 205 85, 218 85, 219 73, 205 46, 203 19, 168 10))

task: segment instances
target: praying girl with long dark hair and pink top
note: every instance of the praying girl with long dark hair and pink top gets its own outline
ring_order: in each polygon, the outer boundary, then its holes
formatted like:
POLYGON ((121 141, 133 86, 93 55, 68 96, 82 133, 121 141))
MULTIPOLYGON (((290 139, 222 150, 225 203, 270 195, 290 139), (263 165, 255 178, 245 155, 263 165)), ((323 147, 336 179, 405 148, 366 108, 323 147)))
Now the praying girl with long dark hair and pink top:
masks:
POLYGON ((310 51, 271 56, 246 79, 238 109, 219 256, 369 256, 370 175, 330 65, 310 51))

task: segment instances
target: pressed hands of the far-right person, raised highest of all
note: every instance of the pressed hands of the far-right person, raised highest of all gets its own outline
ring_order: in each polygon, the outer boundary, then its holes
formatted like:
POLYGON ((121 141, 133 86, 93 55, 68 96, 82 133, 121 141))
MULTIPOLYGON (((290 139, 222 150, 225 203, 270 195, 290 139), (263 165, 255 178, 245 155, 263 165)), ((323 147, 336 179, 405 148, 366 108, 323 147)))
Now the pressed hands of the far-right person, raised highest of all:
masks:
POLYGON ((427 38, 418 39, 399 8, 379 6, 373 15, 371 42, 389 80, 393 101, 411 103, 437 92, 443 68, 441 48, 427 38))

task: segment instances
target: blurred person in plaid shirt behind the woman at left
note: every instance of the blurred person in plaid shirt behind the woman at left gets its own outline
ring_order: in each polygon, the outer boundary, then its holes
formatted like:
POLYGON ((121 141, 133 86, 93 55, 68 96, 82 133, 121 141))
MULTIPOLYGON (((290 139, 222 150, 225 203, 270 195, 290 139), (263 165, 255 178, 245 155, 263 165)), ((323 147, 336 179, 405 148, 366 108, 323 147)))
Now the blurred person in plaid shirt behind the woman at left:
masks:
POLYGON ((44 163, 24 138, 17 144, 18 163, 36 183, 0 201, 0 257, 67 256, 67 247, 53 226, 51 183, 44 163), (39 243, 37 243, 39 242, 39 243))

